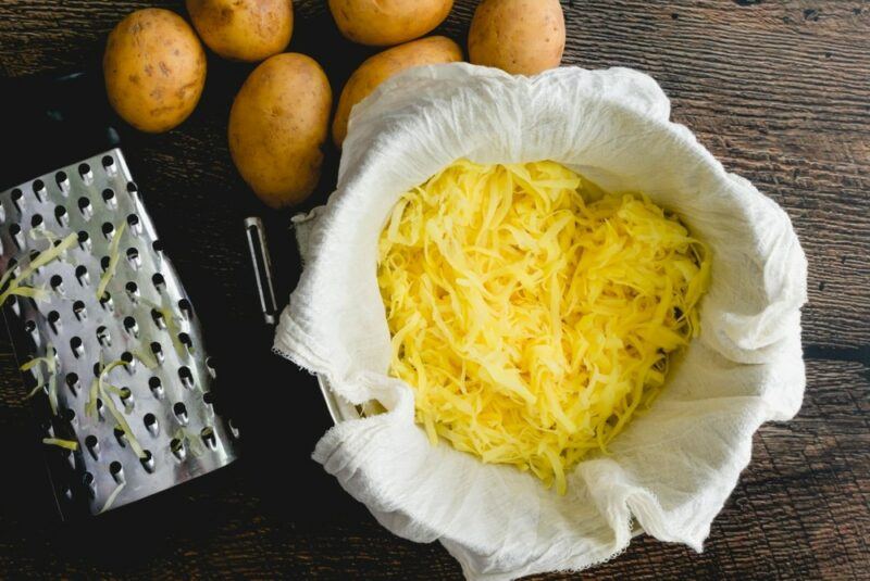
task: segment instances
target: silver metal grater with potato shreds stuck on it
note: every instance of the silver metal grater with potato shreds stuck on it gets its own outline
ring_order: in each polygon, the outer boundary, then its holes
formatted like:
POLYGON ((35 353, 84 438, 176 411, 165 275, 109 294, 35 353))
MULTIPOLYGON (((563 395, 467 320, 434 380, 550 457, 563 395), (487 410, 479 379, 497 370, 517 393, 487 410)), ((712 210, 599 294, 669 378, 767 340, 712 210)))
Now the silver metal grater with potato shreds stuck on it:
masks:
MULTIPOLYGON (((69 250, 20 282, 47 295, 13 295, 4 305, 20 364, 55 352, 57 415, 48 386, 34 400, 41 437, 77 445, 45 445, 65 518, 116 508, 226 466, 238 438, 214 413, 215 371, 199 323, 120 149, 0 192, 0 274, 20 276, 37 252, 71 233, 76 241, 69 250), (98 299, 122 226, 116 268, 98 299), (98 383, 91 402, 100 375, 103 389, 98 383)), ((38 387, 40 376, 50 382, 48 369, 48 361, 38 363, 25 382, 38 387)))

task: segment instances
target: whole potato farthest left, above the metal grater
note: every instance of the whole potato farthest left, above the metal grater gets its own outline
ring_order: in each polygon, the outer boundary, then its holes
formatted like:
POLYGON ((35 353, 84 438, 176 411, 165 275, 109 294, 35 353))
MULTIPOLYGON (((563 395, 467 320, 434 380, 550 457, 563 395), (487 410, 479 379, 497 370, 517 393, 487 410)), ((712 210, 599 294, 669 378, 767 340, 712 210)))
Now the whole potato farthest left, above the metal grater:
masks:
POLYGON ((167 131, 194 111, 206 84, 206 53, 169 10, 138 10, 109 35, 102 60, 109 103, 127 123, 167 131))

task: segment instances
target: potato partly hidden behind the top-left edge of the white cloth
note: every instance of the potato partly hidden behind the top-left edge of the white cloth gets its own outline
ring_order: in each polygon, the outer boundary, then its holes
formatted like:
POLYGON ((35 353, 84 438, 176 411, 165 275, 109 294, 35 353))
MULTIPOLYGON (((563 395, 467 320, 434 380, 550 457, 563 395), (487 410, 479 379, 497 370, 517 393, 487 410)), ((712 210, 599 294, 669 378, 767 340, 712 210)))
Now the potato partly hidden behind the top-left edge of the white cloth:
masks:
POLYGON ((371 56, 347 80, 333 121, 333 141, 339 148, 347 136, 347 121, 353 105, 383 81, 406 68, 462 60, 462 49, 449 38, 433 36, 393 47, 371 56))

